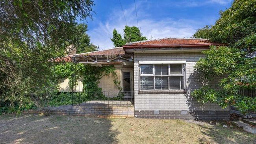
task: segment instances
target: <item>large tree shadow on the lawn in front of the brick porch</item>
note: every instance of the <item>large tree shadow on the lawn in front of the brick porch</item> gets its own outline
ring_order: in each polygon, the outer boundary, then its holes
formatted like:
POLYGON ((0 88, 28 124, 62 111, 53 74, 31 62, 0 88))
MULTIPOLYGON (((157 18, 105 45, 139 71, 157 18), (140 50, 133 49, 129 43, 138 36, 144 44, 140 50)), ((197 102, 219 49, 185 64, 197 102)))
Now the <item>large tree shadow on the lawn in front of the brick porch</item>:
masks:
POLYGON ((119 134, 109 119, 78 116, 9 116, 0 118, 0 126, 1 144, 115 144, 119 134))

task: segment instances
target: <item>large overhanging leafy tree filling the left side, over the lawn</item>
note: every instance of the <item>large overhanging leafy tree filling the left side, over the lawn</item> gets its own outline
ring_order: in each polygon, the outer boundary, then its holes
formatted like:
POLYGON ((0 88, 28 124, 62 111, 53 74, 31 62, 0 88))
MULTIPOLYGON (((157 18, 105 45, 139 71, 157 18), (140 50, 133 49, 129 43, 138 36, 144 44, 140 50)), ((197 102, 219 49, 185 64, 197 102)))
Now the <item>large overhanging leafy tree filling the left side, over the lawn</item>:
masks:
POLYGON ((50 59, 76 46, 77 18, 91 18, 92 0, 0 1, 0 101, 44 109, 56 92, 50 59))

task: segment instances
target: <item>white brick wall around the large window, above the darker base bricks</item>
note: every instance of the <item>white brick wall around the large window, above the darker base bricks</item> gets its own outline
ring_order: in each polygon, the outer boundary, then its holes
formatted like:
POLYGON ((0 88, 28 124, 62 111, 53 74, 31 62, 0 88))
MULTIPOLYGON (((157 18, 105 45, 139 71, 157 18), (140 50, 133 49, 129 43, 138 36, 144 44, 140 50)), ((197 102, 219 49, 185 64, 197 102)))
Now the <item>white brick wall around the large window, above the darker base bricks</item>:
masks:
MULTIPOLYGON (((202 53, 166 53, 166 54, 134 54, 134 101, 135 111, 139 110, 219 110, 229 111, 229 108, 222 109, 215 103, 202 105, 197 100, 191 100, 189 93, 201 87, 200 76, 195 74, 193 66, 202 53), (140 60, 186 60, 186 87, 187 94, 138 94, 139 92, 139 63, 140 60)), ((214 83, 212 83, 214 84, 214 83)))

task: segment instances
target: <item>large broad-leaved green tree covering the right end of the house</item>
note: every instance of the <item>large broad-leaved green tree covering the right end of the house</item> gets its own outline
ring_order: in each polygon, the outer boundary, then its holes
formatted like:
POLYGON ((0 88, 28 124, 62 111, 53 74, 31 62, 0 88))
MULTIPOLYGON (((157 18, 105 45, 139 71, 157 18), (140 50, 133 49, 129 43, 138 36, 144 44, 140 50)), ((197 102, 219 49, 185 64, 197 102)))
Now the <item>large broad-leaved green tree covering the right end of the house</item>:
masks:
POLYGON ((205 85, 192 92, 202 103, 215 102, 222 107, 234 105, 243 113, 256 111, 256 98, 239 94, 241 89, 256 88, 256 0, 235 0, 213 26, 199 29, 194 37, 224 42, 203 52, 205 58, 195 65, 205 80, 222 79, 218 89, 205 85))

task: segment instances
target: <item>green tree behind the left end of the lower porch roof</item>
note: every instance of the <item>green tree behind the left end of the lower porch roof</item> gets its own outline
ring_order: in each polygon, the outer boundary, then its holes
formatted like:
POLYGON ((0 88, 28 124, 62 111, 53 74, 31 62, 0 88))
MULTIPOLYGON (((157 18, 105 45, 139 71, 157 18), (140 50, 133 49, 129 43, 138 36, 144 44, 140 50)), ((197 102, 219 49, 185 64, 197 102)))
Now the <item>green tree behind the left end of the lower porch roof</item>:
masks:
POLYGON ((76 26, 76 30, 78 31, 78 34, 76 35, 76 41, 77 41, 77 48, 76 53, 85 53, 85 52, 92 52, 98 50, 98 46, 95 46, 93 43, 90 43, 90 37, 86 33, 88 31, 86 24, 78 24, 76 26))

